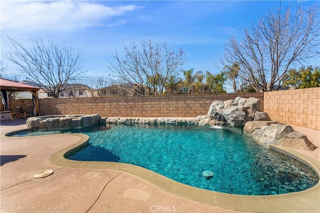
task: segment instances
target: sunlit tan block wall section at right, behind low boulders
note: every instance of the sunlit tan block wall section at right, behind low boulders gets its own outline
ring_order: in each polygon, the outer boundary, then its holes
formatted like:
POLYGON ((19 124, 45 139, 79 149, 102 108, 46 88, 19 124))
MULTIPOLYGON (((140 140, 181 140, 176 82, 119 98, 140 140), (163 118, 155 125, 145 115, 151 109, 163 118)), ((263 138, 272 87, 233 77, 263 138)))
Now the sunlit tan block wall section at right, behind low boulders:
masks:
POLYGON ((320 87, 263 93, 272 120, 320 131, 320 87))

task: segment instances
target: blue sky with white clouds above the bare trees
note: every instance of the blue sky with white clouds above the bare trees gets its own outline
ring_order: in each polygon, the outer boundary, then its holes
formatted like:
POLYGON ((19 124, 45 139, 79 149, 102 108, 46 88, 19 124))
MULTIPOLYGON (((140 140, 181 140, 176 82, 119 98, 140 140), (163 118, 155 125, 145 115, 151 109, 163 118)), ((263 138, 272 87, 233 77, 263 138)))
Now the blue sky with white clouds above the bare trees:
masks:
MULTIPOLYGON (((282 1, 281 4, 314 4, 318 1, 282 1)), ((214 66, 231 35, 240 37, 280 1, 99 1, 1 0, 1 49, 6 34, 28 45, 30 37, 53 39, 82 51, 88 75, 107 75, 107 59, 123 52, 123 43, 165 41, 186 53, 183 69, 218 73, 214 66)), ((4 65, 10 62, 1 59, 4 65)), ((307 64, 309 65, 309 64, 307 64)), ((314 64, 311 64, 314 65, 314 64)), ((14 69, 9 68, 9 72, 14 69)))

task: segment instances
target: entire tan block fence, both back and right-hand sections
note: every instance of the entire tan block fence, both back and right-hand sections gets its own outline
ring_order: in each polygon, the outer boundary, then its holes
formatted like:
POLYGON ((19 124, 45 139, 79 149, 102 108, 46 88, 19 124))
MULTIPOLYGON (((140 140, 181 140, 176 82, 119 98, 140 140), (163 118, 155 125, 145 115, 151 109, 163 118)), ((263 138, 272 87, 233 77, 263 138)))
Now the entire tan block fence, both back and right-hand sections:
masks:
MULTIPOLYGON (((320 87, 264 93, 163 95, 40 99, 41 115, 93 114, 102 117, 196 117, 206 115, 214 100, 237 96, 261 100, 272 120, 320 131, 320 87)), ((32 106, 32 100, 10 100, 10 108, 32 106)))

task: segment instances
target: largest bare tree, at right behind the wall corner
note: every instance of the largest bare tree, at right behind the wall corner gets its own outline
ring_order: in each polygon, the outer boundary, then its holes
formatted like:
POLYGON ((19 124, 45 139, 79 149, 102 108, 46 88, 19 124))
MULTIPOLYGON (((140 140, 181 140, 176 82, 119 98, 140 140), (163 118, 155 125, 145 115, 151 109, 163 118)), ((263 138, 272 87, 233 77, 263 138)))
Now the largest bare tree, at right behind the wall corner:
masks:
POLYGON ((290 66, 318 57, 319 26, 316 6, 298 5, 292 11, 280 5, 252 23, 250 30, 245 29, 240 41, 232 36, 219 61, 224 66, 238 61, 240 72, 249 76, 256 90, 271 91, 274 85, 277 90, 290 66))

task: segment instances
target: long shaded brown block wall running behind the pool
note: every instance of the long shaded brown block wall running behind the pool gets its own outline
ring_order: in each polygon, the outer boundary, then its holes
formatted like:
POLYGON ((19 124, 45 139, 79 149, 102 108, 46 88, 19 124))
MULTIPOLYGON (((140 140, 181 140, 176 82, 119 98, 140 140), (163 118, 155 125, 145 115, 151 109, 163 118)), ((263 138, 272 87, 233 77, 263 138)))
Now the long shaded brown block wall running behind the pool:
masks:
MULTIPOLYGON (((226 101, 237 96, 243 98, 256 97, 263 104, 263 93, 241 93, 50 98, 39 99, 39 108, 40 115, 99 113, 102 117, 196 117, 206 115, 214 100, 226 101)), ((22 105, 21 101, 10 100, 10 106, 22 105)))

